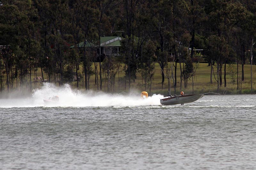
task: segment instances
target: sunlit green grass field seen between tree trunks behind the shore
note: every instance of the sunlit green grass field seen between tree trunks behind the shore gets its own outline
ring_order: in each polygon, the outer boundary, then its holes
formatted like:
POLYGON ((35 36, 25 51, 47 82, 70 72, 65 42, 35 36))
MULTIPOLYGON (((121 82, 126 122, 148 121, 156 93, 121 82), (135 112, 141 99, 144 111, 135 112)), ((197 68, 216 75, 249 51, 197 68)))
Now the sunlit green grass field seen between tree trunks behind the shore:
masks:
MULTIPOLYGON (((232 65, 233 69, 236 71, 236 65, 232 65)), ((82 68, 82 67, 81 67, 82 68)), ((94 66, 92 66, 94 69, 94 66)), ((214 68, 215 69, 215 68, 214 68)), ((216 69, 215 69, 216 70, 216 69)), ((241 66, 239 67, 239 77, 241 77, 241 66)), ((81 69, 79 70, 81 71, 81 69)), ((164 70, 166 72, 166 70, 164 70)), ((173 69, 174 71, 174 69, 173 69)), ((230 68, 227 65, 227 72, 230 71, 230 68)), ((99 72, 99 68, 98 68, 99 72)), ((252 82, 253 82, 253 93, 256 93, 256 66, 252 66, 252 82)), ((211 67, 208 67, 207 63, 200 63, 197 70, 196 70, 196 76, 194 80, 194 92, 192 92, 192 79, 188 80, 188 87, 184 88, 184 80, 182 80, 182 86, 180 88, 180 67, 178 65, 177 68, 177 87, 176 87, 176 94, 179 94, 180 91, 185 92, 185 94, 192 94, 192 93, 204 93, 204 92, 217 92, 217 81, 214 79, 214 76, 212 77, 212 84, 210 83, 210 75, 211 75, 211 67)), ((41 76, 40 72, 37 71, 37 76, 41 76)), ((145 89, 144 81, 142 82, 142 78, 140 73, 136 74, 137 79, 135 82, 131 81, 131 88, 130 90, 135 90, 137 92, 141 91, 147 91, 149 93, 148 86, 145 89)), ((100 76, 99 82, 100 82, 100 76)), ((251 65, 245 65, 244 67, 244 77, 245 80, 241 84, 241 92, 242 94, 251 94, 251 65)), ((32 79, 34 76, 32 77, 32 79)), ((44 74, 44 78, 46 79, 46 74, 44 74)), ((105 75, 102 74, 103 82, 102 82, 102 90, 107 91, 107 82, 105 82, 105 75)), ((111 92, 113 93, 127 93, 129 92, 128 89, 128 79, 126 80, 126 89, 125 89, 125 78, 124 78, 124 71, 120 71, 119 73, 119 85, 118 85, 118 73, 116 74, 115 78, 115 87, 113 90, 113 87, 111 88, 111 92)), ((6 80, 4 80, 5 82, 6 80)), ((162 89, 162 76, 161 76, 161 69, 159 65, 156 63, 156 71, 154 74, 154 79, 152 80, 152 87, 151 87, 151 94, 168 94, 168 80, 165 78, 164 86, 162 89)), ((171 80, 172 88, 171 88, 171 94, 174 94, 174 87, 173 82, 171 80)), ((42 85, 41 83, 32 83, 32 88, 40 88, 42 85)), ((57 84, 58 85, 58 84, 57 84)), ((70 84, 73 88, 76 88, 76 82, 72 82, 70 84)), ((90 90, 97 90, 97 85, 95 85, 95 76, 92 75, 90 77, 90 90)), ((19 86, 19 85, 18 85, 19 86)), ((28 86, 28 85, 27 85, 28 86)), ((6 85, 4 85, 5 91, 6 91, 6 85)), ((13 85, 13 89, 16 89, 16 81, 13 85)), ((19 89, 19 88, 18 88, 19 89)), ((83 81, 82 78, 79 82, 79 89, 81 91, 84 91, 83 88, 83 81)), ((224 66, 222 69, 222 85, 219 90, 220 94, 239 94, 239 90, 237 90, 237 83, 236 83, 236 73, 235 73, 235 83, 232 83, 231 74, 227 74, 227 87, 224 87, 224 66)))

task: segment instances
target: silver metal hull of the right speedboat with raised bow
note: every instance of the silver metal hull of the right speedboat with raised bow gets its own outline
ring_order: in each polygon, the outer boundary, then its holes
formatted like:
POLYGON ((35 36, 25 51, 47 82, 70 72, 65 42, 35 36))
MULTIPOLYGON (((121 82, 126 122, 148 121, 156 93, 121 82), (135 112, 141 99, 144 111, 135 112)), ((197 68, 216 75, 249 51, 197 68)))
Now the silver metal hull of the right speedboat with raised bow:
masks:
POLYGON ((202 98, 203 94, 190 94, 190 95, 184 95, 184 96, 174 96, 174 97, 168 97, 164 99, 160 99, 160 103, 162 105, 183 105, 185 103, 191 103, 194 102, 200 98, 202 98))

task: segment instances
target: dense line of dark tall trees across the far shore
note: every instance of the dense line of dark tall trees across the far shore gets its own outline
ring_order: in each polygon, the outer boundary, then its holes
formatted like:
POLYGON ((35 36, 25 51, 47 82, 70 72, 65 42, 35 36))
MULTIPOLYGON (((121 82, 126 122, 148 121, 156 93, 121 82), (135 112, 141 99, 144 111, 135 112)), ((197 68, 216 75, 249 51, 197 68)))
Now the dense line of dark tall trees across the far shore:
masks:
POLYGON ((171 86, 174 91, 187 87, 195 63, 204 61, 218 89, 223 80, 227 85, 227 65, 236 63, 238 89, 244 64, 256 62, 255 36, 255 0, 1 0, 0 88, 32 90, 32 77, 40 75, 59 85, 76 80, 76 87, 83 76, 83 87, 89 89, 95 75, 98 89, 105 79, 110 92, 124 69, 125 88, 140 72, 145 89, 151 90, 159 63, 162 88, 167 78, 171 92, 171 86), (82 41, 99 46, 102 36, 122 37, 118 56, 101 54, 97 46, 77 46, 82 41))

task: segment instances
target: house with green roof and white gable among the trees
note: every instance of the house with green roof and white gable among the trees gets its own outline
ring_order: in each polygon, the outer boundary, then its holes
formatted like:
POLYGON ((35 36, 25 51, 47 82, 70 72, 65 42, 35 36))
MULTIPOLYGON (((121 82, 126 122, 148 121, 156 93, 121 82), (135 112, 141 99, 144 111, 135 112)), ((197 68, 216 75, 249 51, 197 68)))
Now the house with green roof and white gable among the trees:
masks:
MULTIPOLYGON (((118 36, 100 37, 100 54, 117 55, 121 46, 121 40, 122 38, 118 36)), ((92 42, 83 41, 78 44, 78 47, 98 48, 98 45, 95 45, 92 42)), ((70 48, 75 48, 75 46, 71 46, 70 48)))

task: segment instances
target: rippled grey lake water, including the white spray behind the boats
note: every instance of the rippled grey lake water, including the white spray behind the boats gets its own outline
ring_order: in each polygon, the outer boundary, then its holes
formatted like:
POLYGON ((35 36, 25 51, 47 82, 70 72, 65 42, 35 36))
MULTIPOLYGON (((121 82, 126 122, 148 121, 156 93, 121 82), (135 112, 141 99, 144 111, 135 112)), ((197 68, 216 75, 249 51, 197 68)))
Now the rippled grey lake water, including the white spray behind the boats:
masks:
POLYGON ((256 95, 162 97, 48 84, 0 99, 0 169, 256 169, 256 95))

